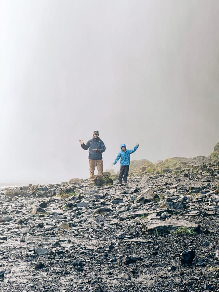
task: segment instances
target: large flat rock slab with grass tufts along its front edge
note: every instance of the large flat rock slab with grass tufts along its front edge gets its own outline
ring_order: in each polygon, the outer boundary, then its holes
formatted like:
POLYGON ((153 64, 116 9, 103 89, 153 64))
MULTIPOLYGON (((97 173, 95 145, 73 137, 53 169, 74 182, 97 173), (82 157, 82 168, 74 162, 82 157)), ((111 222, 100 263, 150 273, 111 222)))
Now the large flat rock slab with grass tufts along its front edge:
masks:
POLYGON ((153 233, 154 230, 157 230, 158 233, 170 233, 174 232, 176 229, 180 227, 191 228, 194 231, 199 231, 200 226, 198 224, 191 223, 187 220, 180 220, 175 218, 169 218, 167 220, 150 220, 147 221, 147 224, 144 225, 144 228, 149 233, 153 233))

